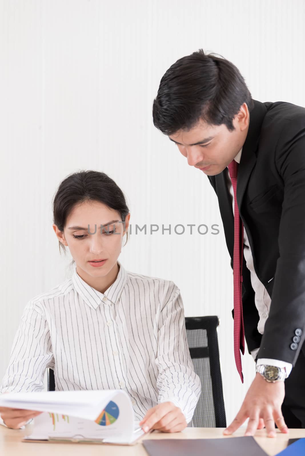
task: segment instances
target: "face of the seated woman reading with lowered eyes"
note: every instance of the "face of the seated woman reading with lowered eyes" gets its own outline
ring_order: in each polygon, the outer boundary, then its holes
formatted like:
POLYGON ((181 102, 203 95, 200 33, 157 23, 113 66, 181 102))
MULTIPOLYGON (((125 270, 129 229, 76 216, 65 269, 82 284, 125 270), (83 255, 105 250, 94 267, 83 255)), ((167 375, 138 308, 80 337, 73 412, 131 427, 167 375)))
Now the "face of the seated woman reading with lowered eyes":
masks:
POLYGON ((78 269, 92 277, 104 277, 121 253, 129 219, 130 214, 124 224, 118 212, 101 202, 90 201, 74 207, 63 233, 54 224, 53 229, 59 241, 68 246, 78 269), (90 263, 94 260, 105 261, 90 263))

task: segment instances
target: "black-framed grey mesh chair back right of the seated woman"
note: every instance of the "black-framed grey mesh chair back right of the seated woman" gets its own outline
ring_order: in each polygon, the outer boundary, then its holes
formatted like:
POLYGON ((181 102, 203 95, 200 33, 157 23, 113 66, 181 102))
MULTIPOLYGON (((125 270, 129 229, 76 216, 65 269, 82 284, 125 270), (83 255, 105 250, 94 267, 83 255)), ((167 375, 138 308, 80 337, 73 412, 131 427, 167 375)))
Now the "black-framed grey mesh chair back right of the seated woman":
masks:
POLYGON ((185 317, 189 352, 201 381, 193 416, 195 427, 226 427, 217 338, 217 316, 185 317))

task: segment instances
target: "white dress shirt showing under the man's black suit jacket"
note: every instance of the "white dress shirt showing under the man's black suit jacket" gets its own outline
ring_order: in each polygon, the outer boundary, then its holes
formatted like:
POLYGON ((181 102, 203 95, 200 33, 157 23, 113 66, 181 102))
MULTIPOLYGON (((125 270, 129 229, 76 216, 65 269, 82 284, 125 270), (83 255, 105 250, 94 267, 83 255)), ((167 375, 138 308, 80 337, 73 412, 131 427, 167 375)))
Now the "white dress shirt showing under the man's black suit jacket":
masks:
MULTIPOLYGON (((242 156, 242 149, 238 152, 234 160, 237 163, 240 163, 241 161, 241 156, 242 156)), ((227 182, 228 182, 228 188, 231 194, 231 199, 232 199, 232 207, 233 207, 233 214, 234 214, 234 192, 233 192, 233 186, 231 182, 231 178, 229 175, 229 171, 227 169, 227 182)), ((254 290, 254 301, 255 301, 255 306, 258 310, 258 315, 259 315, 259 321, 258 321, 258 332, 263 334, 264 332, 264 327, 266 320, 269 315, 269 310, 270 310, 270 305, 271 305, 271 298, 268 294, 268 291, 262 284, 262 282, 258 279, 258 276, 255 273, 254 270, 254 265, 253 265, 253 257, 252 257, 252 252, 249 244, 249 240, 247 237, 246 233, 246 228, 244 228, 244 238, 243 238, 243 243, 244 243, 244 257, 246 260, 246 266, 247 269, 250 271, 250 279, 251 279, 251 285, 254 290)), ((255 359, 257 354, 258 354, 259 348, 256 348, 255 350, 252 350, 251 354, 253 358, 255 359)), ((288 377, 289 373, 291 372, 292 369, 292 364, 291 363, 286 363, 284 361, 280 361, 278 359, 269 359, 269 358, 259 358, 256 363, 258 366, 261 364, 267 364, 271 366, 276 366, 279 368, 285 368, 286 369, 286 378, 288 377)))

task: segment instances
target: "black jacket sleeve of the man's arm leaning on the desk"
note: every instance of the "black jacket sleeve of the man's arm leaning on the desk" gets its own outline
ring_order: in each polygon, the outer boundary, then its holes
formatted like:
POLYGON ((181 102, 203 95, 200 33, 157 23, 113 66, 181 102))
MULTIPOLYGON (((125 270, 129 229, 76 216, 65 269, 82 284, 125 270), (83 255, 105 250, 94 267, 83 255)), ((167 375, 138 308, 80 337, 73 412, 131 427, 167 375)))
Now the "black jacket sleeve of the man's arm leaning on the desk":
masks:
POLYGON ((258 358, 294 365, 305 339, 305 119, 286 122, 275 156, 284 182, 279 259, 258 358))

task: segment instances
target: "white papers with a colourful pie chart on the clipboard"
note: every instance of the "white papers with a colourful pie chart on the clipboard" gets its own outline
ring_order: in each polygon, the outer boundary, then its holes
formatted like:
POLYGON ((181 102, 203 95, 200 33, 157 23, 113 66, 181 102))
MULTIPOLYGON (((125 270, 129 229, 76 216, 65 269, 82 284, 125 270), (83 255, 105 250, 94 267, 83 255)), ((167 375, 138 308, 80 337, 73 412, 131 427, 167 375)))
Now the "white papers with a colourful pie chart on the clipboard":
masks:
POLYGON ((131 445, 144 434, 122 390, 8 393, 0 405, 42 411, 25 441, 72 440, 131 445))

